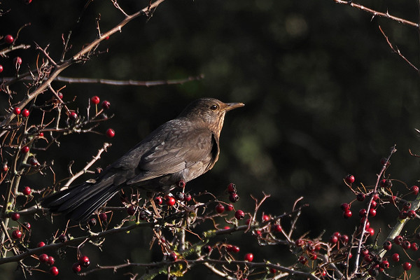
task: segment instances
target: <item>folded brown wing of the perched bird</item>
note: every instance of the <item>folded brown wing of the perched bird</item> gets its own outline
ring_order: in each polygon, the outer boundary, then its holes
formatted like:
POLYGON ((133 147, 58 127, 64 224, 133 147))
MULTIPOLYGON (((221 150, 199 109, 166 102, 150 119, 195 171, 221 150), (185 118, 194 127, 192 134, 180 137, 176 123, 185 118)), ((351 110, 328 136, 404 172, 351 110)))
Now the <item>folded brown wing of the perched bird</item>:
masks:
POLYGON ((166 123, 151 135, 113 165, 114 168, 139 170, 125 182, 127 185, 181 172, 209 157, 215 142, 209 129, 182 122, 166 123), (137 163, 135 167, 134 162, 137 163))

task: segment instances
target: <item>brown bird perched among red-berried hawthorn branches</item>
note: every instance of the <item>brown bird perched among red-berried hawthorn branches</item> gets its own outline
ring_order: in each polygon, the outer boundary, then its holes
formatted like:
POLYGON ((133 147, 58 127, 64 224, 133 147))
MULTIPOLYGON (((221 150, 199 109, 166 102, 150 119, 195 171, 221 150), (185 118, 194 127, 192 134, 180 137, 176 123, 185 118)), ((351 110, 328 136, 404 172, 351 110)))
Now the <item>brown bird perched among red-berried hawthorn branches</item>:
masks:
POLYGON ((191 181, 214 167, 225 113, 241 106, 196 99, 96 178, 43 197, 41 207, 72 221, 85 221, 122 188, 168 193, 180 181, 191 181))

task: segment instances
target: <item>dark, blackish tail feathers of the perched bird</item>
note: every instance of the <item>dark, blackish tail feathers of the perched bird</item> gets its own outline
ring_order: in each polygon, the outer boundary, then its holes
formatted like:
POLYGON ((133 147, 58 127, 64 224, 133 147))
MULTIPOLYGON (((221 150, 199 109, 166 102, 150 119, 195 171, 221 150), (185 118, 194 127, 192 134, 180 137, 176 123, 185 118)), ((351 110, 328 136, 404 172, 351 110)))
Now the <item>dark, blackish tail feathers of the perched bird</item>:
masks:
POLYGON ((67 219, 83 221, 102 207, 120 188, 107 180, 97 183, 82 183, 59 191, 41 200, 41 206, 52 213, 62 213, 67 219))

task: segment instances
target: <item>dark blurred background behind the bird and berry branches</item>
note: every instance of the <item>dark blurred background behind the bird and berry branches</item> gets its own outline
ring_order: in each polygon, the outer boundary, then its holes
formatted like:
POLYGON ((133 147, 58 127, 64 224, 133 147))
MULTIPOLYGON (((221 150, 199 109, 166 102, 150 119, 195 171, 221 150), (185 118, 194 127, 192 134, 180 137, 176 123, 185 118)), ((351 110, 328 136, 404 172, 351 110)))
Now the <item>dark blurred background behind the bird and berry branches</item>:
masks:
MULTIPOLYGON (((147 3, 123 1, 120 5, 134 13, 147 3)), ((360 3, 414 22, 418 18, 414 1, 404 5, 398 1, 360 3)), ((0 7, 10 8, 10 12, 0 17, 1 34, 16 34, 19 27, 31 22, 17 43, 50 44, 50 56, 58 60, 63 33, 66 36, 72 31, 72 55, 95 38, 94 19, 99 13, 103 32, 123 20, 111 1, 93 1, 77 23, 84 5, 85 1, 34 0, 29 5, 5 1, 0 7)), ((289 211, 293 201, 303 196, 310 208, 302 214, 297 235, 310 230, 309 235, 316 237, 323 229, 327 238, 337 230, 351 235, 358 223, 358 207, 363 204, 353 207, 350 222, 344 221, 339 205, 354 199, 342 181, 346 174, 354 174, 358 186, 371 186, 381 168, 380 159, 397 144, 388 173, 408 186, 419 179, 419 160, 408 153, 409 148, 420 153, 414 130, 420 128, 419 75, 391 52, 378 25, 411 62, 419 64, 419 36, 414 28, 384 18, 372 19, 363 11, 330 0, 165 1, 152 18, 130 22, 99 46, 109 52, 69 67, 62 76, 172 80, 203 73, 205 78, 156 87, 67 84, 62 90, 64 100, 76 96, 72 108, 79 108, 80 113, 85 113, 87 99, 93 95, 111 102, 110 112, 115 117, 98 131, 113 127, 116 137, 70 135, 61 139, 59 148, 38 153, 38 160, 55 159, 57 177, 63 178, 69 161, 76 161, 73 169, 77 170, 97 153, 103 141, 111 141, 113 146, 98 162, 105 167, 158 125, 176 117, 193 99, 244 102, 244 108, 228 113, 225 119, 218 163, 211 172, 188 183, 187 189, 210 190, 223 198, 225 187, 235 182, 241 197, 237 208, 252 211, 249 195, 262 197, 264 191, 272 195, 262 209, 270 214, 289 211)), ((32 47, 0 58, 5 68, 1 75, 13 75, 10 67, 17 55, 23 59, 22 69, 27 65, 34 69, 37 52, 32 47)), ((56 89, 62 85, 53 84, 56 89)), ((18 92, 17 102, 25 90, 13 90, 18 92)), ((6 97, 0 98, 6 108, 6 97)), ((51 178, 30 176, 23 183, 41 188, 51 184, 51 178)), ((402 183, 396 185, 405 191, 402 183)), ((375 230, 381 228, 384 238, 386 224, 393 225, 397 214, 385 221, 385 213, 378 212, 371 225, 375 230)), ((54 232, 61 225, 59 218, 53 225, 47 219, 29 221, 34 224, 34 244, 37 238, 45 238, 45 228, 54 232), (42 230, 36 229, 36 223, 42 230)), ((90 255, 94 265, 123 263, 127 258, 134 262, 160 260, 158 250, 148 253, 150 237, 150 230, 136 230, 109 237, 102 252, 86 246, 83 253, 90 255)), ((230 237, 242 244, 240 254, 253 251, 258 261, 268 257, 280 260, 279 252, 286 249, 261 248, 252 240, 240 234, 230 237)), ((60 279, 76 277, 71 272, 75 260, 75 250, 69 250, 65 259, 57 257, 60 279)), ((293 262, 288 259, 286 265, 293 262)), ((3 265, 0 278, 19 279, 21 275, 14 269, 14 264, 3 265)), ((193 269, 188 279, 214 279, 207 272, 193 269)), ((106 271, 90 274, 88 279, 104 276, 128 277, 123 271, 116 275, 106 271)), ((33 279, 44 277, 36 272, 33 279)))

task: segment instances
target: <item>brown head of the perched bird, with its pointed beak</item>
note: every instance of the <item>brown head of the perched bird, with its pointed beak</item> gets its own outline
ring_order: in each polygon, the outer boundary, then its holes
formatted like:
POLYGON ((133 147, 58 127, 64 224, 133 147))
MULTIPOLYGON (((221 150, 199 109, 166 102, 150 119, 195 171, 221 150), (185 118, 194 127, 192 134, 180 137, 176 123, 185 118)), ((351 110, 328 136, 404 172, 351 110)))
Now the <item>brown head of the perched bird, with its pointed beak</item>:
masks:
POLYGON ((244 106, 243 103, 223 103, 214 98, 200 98, 186 107, 179 118, 186 117, 190 120, 202 120, 207 123, 211 130, 218 136, 223 127, 225 113, 227 111, 244 106))

